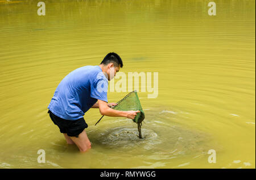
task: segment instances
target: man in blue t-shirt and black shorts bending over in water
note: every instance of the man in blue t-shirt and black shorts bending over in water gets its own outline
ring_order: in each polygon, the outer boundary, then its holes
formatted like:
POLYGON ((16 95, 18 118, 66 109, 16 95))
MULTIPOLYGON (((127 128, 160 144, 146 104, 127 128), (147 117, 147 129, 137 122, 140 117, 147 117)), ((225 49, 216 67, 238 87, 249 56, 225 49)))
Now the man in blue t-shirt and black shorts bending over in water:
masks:
POLYGON ((107 91, 110 81, 122 68, 121 58, 108 53, 100 65, 73 70, 59 83, 48 106, 53 123, 60 128, 68 144, 76 144, 80 152, 90 149, 88 127, 83 116, 89 108, 99 108, 101 115, 134 119, 140 111, 118 111, 110 108, 107 91))

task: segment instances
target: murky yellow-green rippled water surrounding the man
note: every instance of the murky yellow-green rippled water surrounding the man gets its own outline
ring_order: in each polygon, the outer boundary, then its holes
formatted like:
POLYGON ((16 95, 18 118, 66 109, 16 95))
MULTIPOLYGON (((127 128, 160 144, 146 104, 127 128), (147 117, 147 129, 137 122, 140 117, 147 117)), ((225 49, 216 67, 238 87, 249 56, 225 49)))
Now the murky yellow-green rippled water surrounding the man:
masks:
POLYGON ((255 1, 216 0, 216 16, 204 0, 44 2, 38 16, 35 1, 0 1, 0 168, 255 168, 255 1), (158 96, 138 92, 144 139, 130 119, 94 126, 100 112, 86 112, 80 154, 47 106, 69 72, 113 51, 125 74, 158 72, 158 96))

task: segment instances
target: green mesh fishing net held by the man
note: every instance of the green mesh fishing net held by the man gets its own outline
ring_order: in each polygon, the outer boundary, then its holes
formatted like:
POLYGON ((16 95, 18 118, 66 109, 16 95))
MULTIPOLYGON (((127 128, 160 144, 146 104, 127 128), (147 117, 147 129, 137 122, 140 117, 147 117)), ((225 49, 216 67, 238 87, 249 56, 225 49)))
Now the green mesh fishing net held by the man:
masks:
MULTIPOLYGON (((138 124, 139 138, 142 138, 141 125, 142 125, 142 121, 145 118, 145 114, 142 109, 141 102, 139 102, 139 97, 138 97, 137 91, 135 90, 135 91, 132 91, 131 93, 127 94, 123 99, 121 99, 120 101, 117 102, 117 105, 115 105, 112 108, 114 110, 119 110, 119 111, 132 111, 132 110, 133 111, 137 111, 137 110, 141 111, 141 112, 137 113, 137 115, 133 119, 133 122, 138 124)), ((102 116, 101 119, 103 117, 104 116, 102 116)), ((98 120, 98 122, 100 122, 100 120, 98 120)))

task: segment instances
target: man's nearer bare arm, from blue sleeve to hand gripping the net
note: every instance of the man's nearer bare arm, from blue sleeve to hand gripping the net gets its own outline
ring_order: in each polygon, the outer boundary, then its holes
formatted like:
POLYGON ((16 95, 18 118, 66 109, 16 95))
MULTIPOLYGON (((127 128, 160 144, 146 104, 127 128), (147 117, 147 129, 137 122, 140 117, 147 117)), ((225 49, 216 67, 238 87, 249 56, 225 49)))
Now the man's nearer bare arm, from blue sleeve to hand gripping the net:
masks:
MULTIPOLYGON (((95 104, 94 104, 95 105, 95 104)), ((93 106, 94 106, 93 105, 93 106)), ((138 112, 141 111, 118 111, 110 108, 108 103, 98 99, 98 107, 100 109, 101 115, 112 116, 112 117, 126 117, 129 119, 134 119, 138 112)))

